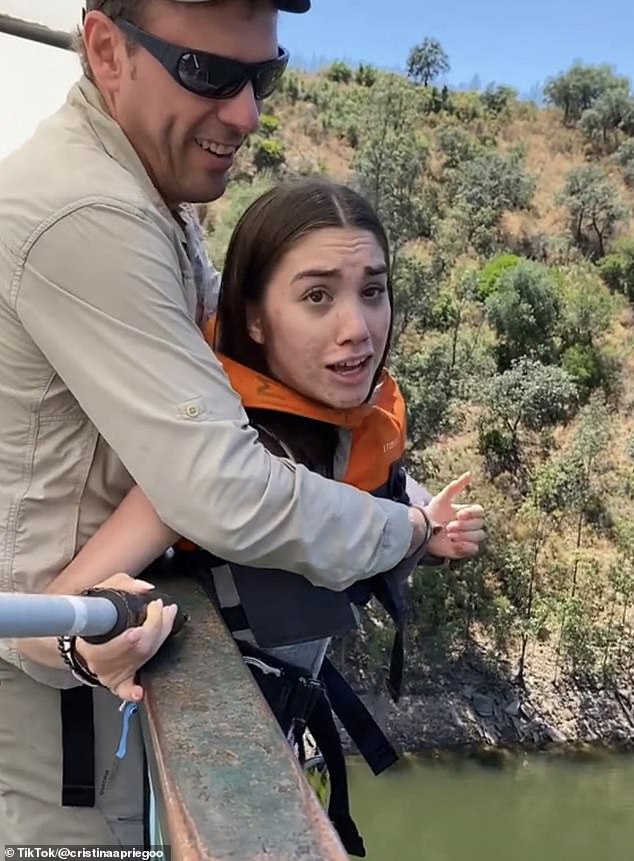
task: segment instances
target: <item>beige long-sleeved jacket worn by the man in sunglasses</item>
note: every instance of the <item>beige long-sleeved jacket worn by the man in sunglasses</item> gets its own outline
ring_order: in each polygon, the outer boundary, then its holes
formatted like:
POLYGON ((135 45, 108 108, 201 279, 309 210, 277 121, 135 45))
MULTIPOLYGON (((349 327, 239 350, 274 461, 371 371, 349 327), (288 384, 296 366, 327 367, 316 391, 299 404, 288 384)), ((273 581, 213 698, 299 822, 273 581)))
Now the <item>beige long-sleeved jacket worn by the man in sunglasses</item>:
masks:
POLYGON ((257 443, 186 238, 86 79, 0 163, 0 591, 45 588, 133 482, 202 547, 331 588, 407 552, 404 506, 257 443))

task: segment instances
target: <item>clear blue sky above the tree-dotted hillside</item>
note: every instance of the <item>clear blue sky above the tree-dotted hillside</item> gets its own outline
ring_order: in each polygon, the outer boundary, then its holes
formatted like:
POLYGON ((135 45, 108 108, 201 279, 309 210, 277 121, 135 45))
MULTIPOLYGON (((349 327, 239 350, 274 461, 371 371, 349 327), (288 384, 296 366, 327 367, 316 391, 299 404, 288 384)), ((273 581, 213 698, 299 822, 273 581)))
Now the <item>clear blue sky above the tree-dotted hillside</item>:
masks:
POLYGON ((307 66, 331 58, 403 68, 412 45, 435 36, 448 83, 495 81, 528 93, 576 59, 634 78, 634 0, 313 0, 282 15, 280 41, 307 66))

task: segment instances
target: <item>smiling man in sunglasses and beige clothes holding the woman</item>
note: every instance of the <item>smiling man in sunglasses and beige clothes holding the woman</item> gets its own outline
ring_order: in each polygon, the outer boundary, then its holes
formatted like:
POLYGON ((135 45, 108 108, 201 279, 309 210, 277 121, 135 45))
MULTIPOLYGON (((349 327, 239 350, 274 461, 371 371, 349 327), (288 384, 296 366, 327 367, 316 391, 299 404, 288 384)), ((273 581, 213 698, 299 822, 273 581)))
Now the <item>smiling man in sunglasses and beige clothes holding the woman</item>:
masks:
MULTIPOLYGON (((133 482, 200 546, 333 588, 423 541, 417 509, 271 457, 200 335, 184 204, 223 194, 284 69, 278 10, 309 5, 92 0, 81 80, 0 164, 1 591, 50 584, 133 482)), ((54 665, 0 649, 2 836, 140 844, 138 739, 108 778, 118 701, 54 665)))

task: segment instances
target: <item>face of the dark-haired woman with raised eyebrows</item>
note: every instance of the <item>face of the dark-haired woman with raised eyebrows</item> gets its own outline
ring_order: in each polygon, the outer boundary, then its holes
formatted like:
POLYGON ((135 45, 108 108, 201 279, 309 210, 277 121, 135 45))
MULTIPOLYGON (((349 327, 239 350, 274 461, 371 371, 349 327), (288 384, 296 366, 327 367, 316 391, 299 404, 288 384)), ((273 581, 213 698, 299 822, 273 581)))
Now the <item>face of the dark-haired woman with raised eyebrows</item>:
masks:
POLYGON ((321 228, 282 258, 248 312, 279 382, 336 409, 363 403, 390 328, 385 256, 374 235, 321 228))

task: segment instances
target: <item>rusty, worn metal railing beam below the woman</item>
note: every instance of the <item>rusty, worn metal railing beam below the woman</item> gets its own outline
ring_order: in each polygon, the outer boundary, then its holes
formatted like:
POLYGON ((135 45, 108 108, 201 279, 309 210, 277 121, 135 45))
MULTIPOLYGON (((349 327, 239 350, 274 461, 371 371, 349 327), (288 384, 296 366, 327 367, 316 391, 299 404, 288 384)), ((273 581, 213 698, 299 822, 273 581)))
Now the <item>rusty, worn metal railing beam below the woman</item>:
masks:
POLYGON ((176 576, 154 582, 189 616, 144 672, 140 710, 155 819, 172 861, 346 861, 202 587, 176 576))

